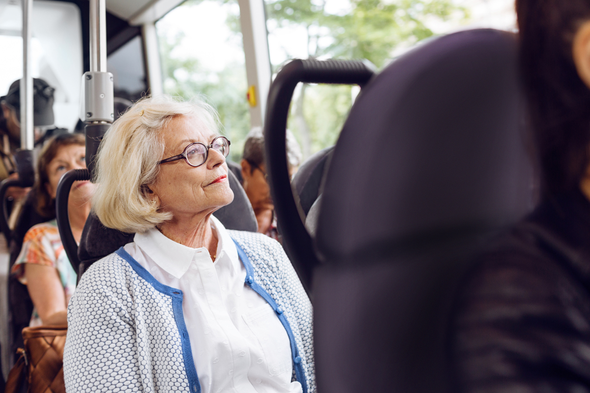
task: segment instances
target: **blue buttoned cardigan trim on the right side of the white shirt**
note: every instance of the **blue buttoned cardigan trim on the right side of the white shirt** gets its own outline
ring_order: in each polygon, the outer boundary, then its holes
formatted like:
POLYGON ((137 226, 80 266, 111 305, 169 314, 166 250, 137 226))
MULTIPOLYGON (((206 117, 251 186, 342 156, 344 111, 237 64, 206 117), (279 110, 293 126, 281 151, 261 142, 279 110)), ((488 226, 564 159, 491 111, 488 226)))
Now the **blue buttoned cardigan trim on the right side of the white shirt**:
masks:
POLYGON ((293 331, 291 330, 291 325, 289 321, 287 321, 286 316, 283 313, 283 310, 277 305, 273 298, 268 295, 268 292, 264 290, 257 282, 254 281, 254 269, 252 264, 250 263, 250 259, 240 246, 238 242, 232 237, 231 240, 234 240, 235 247, 238 250, 238 256, 242 260, 244 267, 246 268, 246 281, 245 283, 250 286, 254 290, 254 292, 258 293, 258 295, 262 296, 264 300, 270 304, 270 306, 274 309, 274 312, 277 314, 278 320, 281 321, 283 327, 287 331, 287 336, 289 336, 289 342, 291 344, 291 359, 293 360, 293 368, 295 369, 295 376, 297 377, 297 381, 301 384, 303 388, 303 393, 307 393, 307 379, 305 378, 305 373, 303 371, 303 365, 301 364, 301 357, 299 355, 299 349, 297 349, 297 345, 295 342, 295 336, 293 335, 293 331))

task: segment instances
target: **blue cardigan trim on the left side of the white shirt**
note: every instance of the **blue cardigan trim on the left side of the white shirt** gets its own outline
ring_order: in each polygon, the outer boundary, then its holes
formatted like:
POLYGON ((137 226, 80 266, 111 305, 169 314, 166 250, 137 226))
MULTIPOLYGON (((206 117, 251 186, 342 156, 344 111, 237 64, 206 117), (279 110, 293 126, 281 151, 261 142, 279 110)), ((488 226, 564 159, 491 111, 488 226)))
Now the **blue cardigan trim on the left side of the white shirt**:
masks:
POLYGON ((185 362, 185 372, 186 378, 188 378, 189 389, 191 389, 192 392, 201 393, 201 383, 199 382, 199 376, 196 373, 195 362, 192 358, 191 340, 188 336, 188 330, 186 330, 184 314, 182 312, 182 299, 184 298, 182 290, 172 288, 168 285, 163 285, 161 282, 156 280, 150 274, 150 272, 148 272, 148 270, 146 270, 142 265, 139 265, 139 262, 133 259, 133 257, 123 249, 123 247, 120 247, 115 253, 126 260, 127 263, 131 265, 133 270, 135 270, 137 275, 146 280, 146 282, 152 285, 154 289, 160 293, 163 293, 163 295, 172 297, 172 311, 174 314, 174 321, 176 322, 176 328, 178 328, 178 332, 181 335, 182 357, 184 358, 185 362))

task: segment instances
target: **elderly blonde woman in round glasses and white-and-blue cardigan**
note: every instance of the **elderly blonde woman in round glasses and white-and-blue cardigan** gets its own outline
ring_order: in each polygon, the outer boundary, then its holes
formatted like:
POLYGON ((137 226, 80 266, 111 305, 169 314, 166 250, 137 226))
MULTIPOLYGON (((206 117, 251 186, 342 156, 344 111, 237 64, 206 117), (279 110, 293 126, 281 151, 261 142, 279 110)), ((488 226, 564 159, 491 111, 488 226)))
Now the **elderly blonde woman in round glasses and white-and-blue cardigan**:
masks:
POLYGON ((104 137, 93 210, 135 238, 70 302, 68 391, 314 392, 312 308, 281 246, 212 215, 233 200, 216 119, 148 98, 104 137))

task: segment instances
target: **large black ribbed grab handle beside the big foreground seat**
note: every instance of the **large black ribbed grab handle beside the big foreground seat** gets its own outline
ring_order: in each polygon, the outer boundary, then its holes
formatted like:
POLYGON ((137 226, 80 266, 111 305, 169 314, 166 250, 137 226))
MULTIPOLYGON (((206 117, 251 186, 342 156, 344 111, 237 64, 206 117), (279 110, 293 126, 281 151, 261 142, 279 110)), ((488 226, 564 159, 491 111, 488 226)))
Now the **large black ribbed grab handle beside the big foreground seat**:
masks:
POLYGON ((291 252, 299 279, 311 294, 312 273, 319 260, 313 241, 303 224, 301 207, 296 202, 287 169, 286 133, 289 105, 299 82, 358 84, 361 87, 375 75, 371 63, 358 60, 293 60, 277 74, 268 91, 264 145, 266 169, 274 208, 281 224, 283 243, 291 252))

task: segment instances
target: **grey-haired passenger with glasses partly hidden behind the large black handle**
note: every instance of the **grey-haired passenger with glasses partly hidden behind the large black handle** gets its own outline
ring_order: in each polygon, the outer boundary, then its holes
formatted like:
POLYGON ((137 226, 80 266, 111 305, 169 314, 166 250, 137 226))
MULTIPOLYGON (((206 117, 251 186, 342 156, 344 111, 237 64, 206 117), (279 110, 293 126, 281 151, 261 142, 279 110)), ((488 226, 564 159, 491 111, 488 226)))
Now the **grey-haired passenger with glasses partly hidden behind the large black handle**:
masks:
MULTIPOLYGON (((287 130, 287 166, 289 176, 297 171, 301 161, 299 144, 291 131, 287 130)), ((264 164, 264 135, 260 127, 253 128, 244 143, 241 161, 241 178, 244 191, 252 204, 258 222, 258 232, 279 240, 274 203, 270 196, 264 164)))

